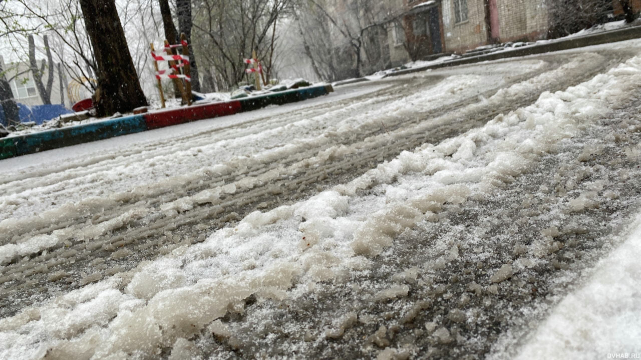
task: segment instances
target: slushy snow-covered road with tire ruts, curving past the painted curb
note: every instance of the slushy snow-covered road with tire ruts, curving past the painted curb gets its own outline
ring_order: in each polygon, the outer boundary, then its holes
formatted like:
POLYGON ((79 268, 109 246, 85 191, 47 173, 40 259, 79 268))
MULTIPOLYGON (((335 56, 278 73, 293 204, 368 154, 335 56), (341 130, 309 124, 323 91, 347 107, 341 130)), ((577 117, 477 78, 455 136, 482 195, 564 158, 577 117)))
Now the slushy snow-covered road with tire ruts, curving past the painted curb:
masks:
POLYGON ((511 357, 638 211, 640 46, 0 161, 0 357, 511 357))

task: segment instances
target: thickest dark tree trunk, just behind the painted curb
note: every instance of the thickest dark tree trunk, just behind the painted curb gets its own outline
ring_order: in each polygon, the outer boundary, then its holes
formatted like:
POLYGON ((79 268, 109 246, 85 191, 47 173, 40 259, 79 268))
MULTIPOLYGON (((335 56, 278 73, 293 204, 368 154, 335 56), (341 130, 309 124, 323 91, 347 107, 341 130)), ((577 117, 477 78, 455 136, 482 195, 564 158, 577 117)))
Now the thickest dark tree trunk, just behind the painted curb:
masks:
POLYGON ((96 57, 96 115, 146 106, 114 0, 80 0, 80 7, 96 57))

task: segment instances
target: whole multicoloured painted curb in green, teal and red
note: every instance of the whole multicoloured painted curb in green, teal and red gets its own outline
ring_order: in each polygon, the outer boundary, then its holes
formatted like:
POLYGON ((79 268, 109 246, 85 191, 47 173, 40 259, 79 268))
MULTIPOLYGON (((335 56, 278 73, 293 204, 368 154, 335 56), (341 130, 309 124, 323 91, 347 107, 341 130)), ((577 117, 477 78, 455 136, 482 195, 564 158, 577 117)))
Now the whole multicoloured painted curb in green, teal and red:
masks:
POLYGON ((233 115, 258 110, 269 105, 282 105, 327 95, 333 92, 331 85, 311 86, 273 94, 246 97, 235 101, 215 102, 171 110, 160 110, 138 115, 129 115, 90 124, 38 131, 21 136, 0 138, 0 160, 59 147, 93 142, 115 136, 140 133, 160 127, 184 124, 196 120, 233 115))

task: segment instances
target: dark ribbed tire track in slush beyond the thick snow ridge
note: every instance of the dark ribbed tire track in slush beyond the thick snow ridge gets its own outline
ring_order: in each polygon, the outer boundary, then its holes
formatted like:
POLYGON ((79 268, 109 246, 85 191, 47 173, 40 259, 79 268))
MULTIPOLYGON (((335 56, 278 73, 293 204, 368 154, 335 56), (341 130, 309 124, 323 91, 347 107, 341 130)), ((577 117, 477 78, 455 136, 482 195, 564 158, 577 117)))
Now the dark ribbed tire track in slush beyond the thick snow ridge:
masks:
MULTIPOLYGON (((617 56, 620 55, 608 54, 608 58, 604 58, 605 60, 609 59, 608 61, 597 63, 597 66, 592 69, 581 69, 580 74, 565 74, 565 78, 559 77, 556 83, 553 82, 550 85, 531 90, 520 99, 504 99, 504 102, 499 106, 488 104, 486 108, 480 106, 469 109, 465 113, 466 106, 476 105, 474 103, 478 102, 475 96, 455 102, 445 108, 428 109, 419 114, 403 114, 404 116, 397 117, 384 127, 376 124, 376 121, 372 121, 365 124, 366 126, 360 127, 360 132, 345 133, 329 138, 329 140, 323 139, 322 143, 315 144, 310 149, 304 149, 305 144, 303 143, 299 145, 301 151, 296 154, 288 154, 283 158, 273 159, 271 162, 258 161, 241 170, 229 172, 217 181, 212 182, 211 180, 203 180, 203 177, 197 177, 193 184, 187 184, 187 186, 176 182, 167 186, 167 189, 162 192, 146 194, 142 198, 107 203, 105 208, 97 211, 96 209, 88 209, 87 214, 81 213, 79 217, 55 225, 61 230, 66 228, 67 235, 72 234, 70 239, 74 241, 67 240, 67 243, 61 241, 58 247, 53 247, 46 253, 26 258, 16 257, 12 259, 12 263, 3 266, 0 278, 3 285, 1 290, 3 292, 0 295, 2 304, 0 305, 6 309, 6 313, 3 315, 15 313, 19 307, 26 306, 33 301, 46 299, 54 291, 68 291, 87 282, 97 281, 104 275, 127 270, 143 259, 151 259, 158 254, 169 252, 172 247, 181 243, 201 241, 205 234, 212 229, 233 224, 235 220, 242 218, 254 209, 269 209, 283 203, 295 202, 313 195, 331 184, 347 182, 369 168, 376 167, 381 161, 394 158, 403 150, 411 150, 425 142, 440 142, 471 127, 479 126, 498 113, 515 110, 529 104, 544 90, 560 90, 573 83, 581 82, 582 79, 589 78, 595 72, 601 72, 613 63, 617 63, 619 61, 617 56), (454 111, 457 108, 463 108, 463 110, 454 111), (451 114, 453 112, 455 112, 454 115, 451 114), (429 123, 431 119, 439 115, 444 119, 437 125, 417 126, 429 123), (347 149, 349 151, 344 152, 344 149, 340 149, 340 145, 349 147, 351 150, 347 149), (322 149, 331 146, 335 146, 335 154, 332 154, 331 151, 322 154, 322 149), (319 155, 319 152, 321 153, 319 165, 305 161, 306 158, 319 155), (257 179, 262 176, 262 179, 242 191, 232 191, 231 188, 228 188, 228 193, 221 191, 221 196, 215 200, 216 204, 208 202, 196 204, 196 206, 188 204, 185 209, 179 212, 165 211, 169 213, 169 217, 163 216, 163 210, 160 209, 163 204, 185 196, 192 196, 203 190, 242 183, 248 176, 257 179), (142 208, 147 209, 149 215, 133 218, 129 222, 114 224, 117 227, 113 227, 106 234, 99 235, 96 239, 86 243, 73 238, 73 234, 82 232, 87 225, 91 225, 88 220, 100 223, 116 218, 126 211, 140 208, 138 204, 140 199, 147 200, 147 204, 142 208), (190 206, 191 208, 189 208, 190 206)), ((542 58, 549 59, 550 57, 542 58)), ((553 56, 551 58, 554 59, 553 56)), ((562 62, 558 61, 551 69, 545 70, 554 70, 561 65, 563 65, 562 62)), ((513 79, 512 83, 519 83, 522 80, 524 79, 513 79)), ((392 95, 394 90, 394 88, 381 90, 378 96, 392 95)), ((489 91, 490 94, 494 92, 494 90, 489 91)), ((408 92, 397 92, 392 101, 408 95, 408 92)), ((388 103, 389 101, 384 102, 388 103)), ((345 103, 341 102, 340 106, 333 108, 337 108, 340 112, 340 108, 344 107, 345 103)), ((381 107, 383 105, 385 104, 382 104, 381 107)), ((315 111, 322 111, 322 106, 319 106, 319 109, 315 111)), ((381 114, 378 119, 387 121, 388 118, 385 114, 381 114)), ((282 126, 288 121, 294 120, 283 120, 279 122, 278 126, 282 126)), ((233 137, 231 134, 233 129, 231 127, 224 131, 229 131, 227 136, 233 137)), ((263 127, 261 129, 265 131, 263 127)), ((247 129, 247 132, 251 133, 251 129, 247 129)), ((197 141, 207 142, 210 136, 210 133, 204 133, 202 138, 197 141)), ((158 146, 159 149, 166 147, 167 150, 163 150, 165 154, 171 153, 173 147, 171 140, 158 146)), ((278 151, 278 147, 274 149, 278 151)), ((110 167, 117 162, 114 160, 108 161, 108 163, 98 163, 96 167, 110 167)), ((94 171, 88 170, 87 172, 91 174, 94 171)), ((204 178, 206 179, 208 176, 211 175, 205 174, 204 178)), ((55 229, 55 226, 42 227, 39 232, 50 233, 55 229)), ((31 232, 26 233, 28 234, 20 238, 22 241, 38 233, 38 230, 31 229, 31 232)), ((18 236, 22 236, 22 234, 18 234, 18 236)))

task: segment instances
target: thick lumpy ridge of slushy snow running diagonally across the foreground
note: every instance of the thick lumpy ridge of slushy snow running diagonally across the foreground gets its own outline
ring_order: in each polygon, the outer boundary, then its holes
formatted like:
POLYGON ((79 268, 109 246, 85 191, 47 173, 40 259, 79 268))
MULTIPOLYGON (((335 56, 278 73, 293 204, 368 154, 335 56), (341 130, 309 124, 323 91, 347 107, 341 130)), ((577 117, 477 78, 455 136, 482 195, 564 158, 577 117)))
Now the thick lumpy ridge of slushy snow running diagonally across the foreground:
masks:
MULTIPOLYGON (((393 246, 403 231, 417 222, 440 221, 443 206, 464 204, 471 196, 483 197, 526 172, 541 154, 554 151, 558 142, 616 106, 640 82, 641 58, 637 57, 564 92, 544 93, 535 104, 499 115, 479 129, 403 152, 309 200, 251 213, 236 227, 221 229, 204 243, 178 247, 131 272, 2 319, 0 357, 28 359, 48 354, 66 359, 123 359, 130 354, 147 359, 158 357, 163 348, 174 347, 176 354, 188 352, 185 339, 212 326, 224 333, 217 319, 226 313, 242 313, 251 297, 278 302, 306 293, 318 281, 348 281, 351 271, 369 268, 371 259, 393 246), (358 195, 375 186, 378 195, 358 195)), ((345 121, 338 128, 354 131, 366 126, 372 124, 345 121)), ((371 140, 403 136, 403 131, 371 140)), ((210 199, 211 195, 197 197, 210 199)), ((179 211, 185 206, 184 201, 174 202, 165 210, 179 211)), ((448 246, 442 258, 425 268, 442 266, 457 257, 458 248, 448 246)), ((487 281, 501 282, 515 268, 505 264, 488 275, 487 281)), ((412 269, 399 275, 406 281, 412 278, 412 269)), ((378 298, 404 297, 408 290, 404 284, 394 284, 378 298)), ((465 314, 456 311, 448 316, 453 321, 465 319, 465 314)), ((351 322, 353 316, 348 315, 337 323, 337 334, 351 322)), ((447 329, 433 330, 441 343, 453 340, 447 329)), ((385 340, 385 327, 379 331, 371 341, 385 340)), ((401 352, 388 349, 380 357, 394 358, 401 352)))

